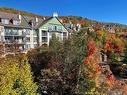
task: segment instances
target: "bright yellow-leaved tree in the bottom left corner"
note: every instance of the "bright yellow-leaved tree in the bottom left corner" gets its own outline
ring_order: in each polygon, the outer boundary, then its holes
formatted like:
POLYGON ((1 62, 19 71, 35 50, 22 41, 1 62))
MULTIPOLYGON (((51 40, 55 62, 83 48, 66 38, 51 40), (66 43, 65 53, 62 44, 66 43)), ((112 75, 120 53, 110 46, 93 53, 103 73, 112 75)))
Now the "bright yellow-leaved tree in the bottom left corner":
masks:
POLYGON ((6 57, 0 61, 1 95, 37 95, 30 65, 25 56, 6 57))

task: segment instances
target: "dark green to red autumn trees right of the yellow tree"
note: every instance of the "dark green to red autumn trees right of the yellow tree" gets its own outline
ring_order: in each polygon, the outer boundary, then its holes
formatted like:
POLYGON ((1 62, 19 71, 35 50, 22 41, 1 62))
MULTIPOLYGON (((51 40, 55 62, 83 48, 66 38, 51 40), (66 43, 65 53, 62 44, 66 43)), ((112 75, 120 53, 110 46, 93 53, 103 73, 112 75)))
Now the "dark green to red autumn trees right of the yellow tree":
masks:
POLYGON ((109 95, 120 82, 115 82, 110 68, 100 66, 100 56, 107 55, 107 65, 121 64, 118 62, 123 48, 124 40, 115 34, 86 30, 64 42, 53 36, 49 47, 29 51, 28 58, 41 94, 109 95))

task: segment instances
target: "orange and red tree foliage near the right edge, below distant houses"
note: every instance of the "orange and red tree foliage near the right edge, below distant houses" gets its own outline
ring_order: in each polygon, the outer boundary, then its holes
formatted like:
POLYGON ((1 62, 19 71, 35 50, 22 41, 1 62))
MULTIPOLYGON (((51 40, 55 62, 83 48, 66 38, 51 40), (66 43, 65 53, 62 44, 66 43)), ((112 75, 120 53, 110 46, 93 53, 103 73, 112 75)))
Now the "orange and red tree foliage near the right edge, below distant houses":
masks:
POLYGON ((114 52, 116 54, 120 54, 124 48, 124 40, 120 37, 116 36, 115 34, 109 33, 107 31, 97 31, 97 36, 101 40, 104 38, 104 51, 114 52))

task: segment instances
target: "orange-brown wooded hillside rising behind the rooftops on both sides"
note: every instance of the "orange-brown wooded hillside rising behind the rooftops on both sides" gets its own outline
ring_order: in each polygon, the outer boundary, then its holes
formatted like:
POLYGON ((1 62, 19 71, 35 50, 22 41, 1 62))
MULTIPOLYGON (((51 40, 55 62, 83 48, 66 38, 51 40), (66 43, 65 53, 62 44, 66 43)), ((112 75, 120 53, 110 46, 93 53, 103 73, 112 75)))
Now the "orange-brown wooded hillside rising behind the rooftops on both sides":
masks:
MULTIPOLYGON (((37 14, 26 12, 26 11, 16 10, 13 8, 0 8, 0 11, 14 13, 14 14, 20 13, 21 15, 31 16, 31 17, 35 17, 35 16, 37 16, 39 18, 44 17, 41 15, 37 15, 37 14)), ((45 16, 45 17, 47 17, 47 16, 45 16)), ((69 23, 69 22, 72 22, 73 24, 80 23, 82 28, 94 26, 94 28, 100 29, 105 26, 105 27, 114 28, 115 30, 118 30, 119 32, 126 32, 127 31, 127 25, 118 24, 118 23, 98 22, 95 20, 91 20, 91 19, 87 19, 87 18, 83 18, 83 17, 79 17, 79 16, 61 16, 60 18, 63 20, 64 23, 69 23)))

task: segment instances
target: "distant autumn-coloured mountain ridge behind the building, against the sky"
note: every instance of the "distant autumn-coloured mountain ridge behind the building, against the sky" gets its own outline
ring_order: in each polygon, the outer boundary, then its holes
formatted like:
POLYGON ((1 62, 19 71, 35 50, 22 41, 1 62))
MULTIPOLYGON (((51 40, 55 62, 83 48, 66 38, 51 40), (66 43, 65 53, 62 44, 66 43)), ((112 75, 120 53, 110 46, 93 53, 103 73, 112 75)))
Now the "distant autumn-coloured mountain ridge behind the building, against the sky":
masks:
MULTIPOLYGON (((39 18, 49 17, 49 16, 42 16, 42 15, 34 14, 31 12, 17 10, 14 8, 6 8, 6 7, 0 7, 0 11, 7 12, 7 13, 21 14, 21 15, 31 16, 31 17, 39 17, 39 18)), ((89 26, 96 24, 96 25, 99 25, 99 27, 108 25, 111 27, 115 26, 115 27, 122 28, 122 29, 124 28, 127 30, 127 25, 125 25, 125 24, 112 23, 112 22, 101 22, 101 21, 97 21, 97 20, 91 20, 88 18, 84 18, 81 16, 60 16, 59 18, 62 19, 64 23, 70 23, 70 22, 72 22, 74 24, 79 23, 82 25, 82 27, 89 27, 89 26)))

